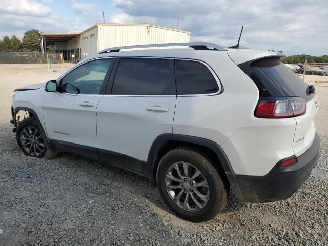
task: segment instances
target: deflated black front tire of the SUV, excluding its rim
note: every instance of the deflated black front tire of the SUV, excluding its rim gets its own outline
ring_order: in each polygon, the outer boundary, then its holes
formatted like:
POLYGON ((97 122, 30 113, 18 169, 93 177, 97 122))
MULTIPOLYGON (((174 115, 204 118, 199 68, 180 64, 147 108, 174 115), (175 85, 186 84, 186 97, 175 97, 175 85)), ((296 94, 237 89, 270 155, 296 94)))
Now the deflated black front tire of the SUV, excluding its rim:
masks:
POLYGON ((16 130, 16 141, 17 141, 17 145, 19 146, 19 148, 23 151, 23 153, 25 155, 29 155, 29 156, 33 156, 33 157, 37 157, 37 158, 43 158, 43 159, 52 159, 52 158, 57 157, 59 154, 57 151, 51 150, 47 146, 46 137, 44 136, 43 129, 40 128, 39 124, 37 123, 37 121, 35 120, 34 117, 26 118, 18 124, 17 130, 16 130), (44 139, 44 151, 42 153, 40 153, 39 155, 30 154, 23 148, 23 144, 22 144, 22 140, 20 139, 20 136, 21 136, 23 129, 25 129, 26 127, 32 127, 32 128, 37 129, 39 131, 40 135, 42 136, 42 138, 44 139))

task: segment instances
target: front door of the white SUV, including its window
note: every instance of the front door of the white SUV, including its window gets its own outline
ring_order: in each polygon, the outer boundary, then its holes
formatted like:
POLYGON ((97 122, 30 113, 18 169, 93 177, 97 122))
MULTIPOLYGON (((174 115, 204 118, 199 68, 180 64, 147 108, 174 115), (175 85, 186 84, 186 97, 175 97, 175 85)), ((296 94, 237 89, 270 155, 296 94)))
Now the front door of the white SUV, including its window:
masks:
POLYGON ((97 157, 96 107, 104 95, 114 59, 91 60, 58 81, 44 104, 48 138, 59 149, 97 157))

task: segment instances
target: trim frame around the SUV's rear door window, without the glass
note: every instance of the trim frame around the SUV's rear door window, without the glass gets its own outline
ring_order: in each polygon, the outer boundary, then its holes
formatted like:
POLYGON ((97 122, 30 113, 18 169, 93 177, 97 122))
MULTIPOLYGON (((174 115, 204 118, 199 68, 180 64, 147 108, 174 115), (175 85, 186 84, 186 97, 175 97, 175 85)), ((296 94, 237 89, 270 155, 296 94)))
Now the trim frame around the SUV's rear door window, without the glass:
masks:
POLYGON ((112 73, 111 76, 109 78, 109 82, 108 82, 108 86, 106 88, 105 94, 104 96, 131 96, 131 97, 145 97, 145 96, 176 96, 176 86, 175 86, 175 73, 174 73, 174 58, 172 57, 154 57, 154 56, 118 56, 116 61, 115 61, 115 65, 112 69, 112 73), (114 78, 116 75, 116 71, 117 71, 117 67, 119 64, 119 61, 121 59, 164 59, 164 60, 168 60, 169 61, 169 94, 165 94, 165 95, 153 95, 153 94, 147 94, 147 95, 131 95, 131 94, 122 94, 122 95, 118 95, 118 94, 112 94, 112 89, 113 89, 113 83, 114 83, 114 78))

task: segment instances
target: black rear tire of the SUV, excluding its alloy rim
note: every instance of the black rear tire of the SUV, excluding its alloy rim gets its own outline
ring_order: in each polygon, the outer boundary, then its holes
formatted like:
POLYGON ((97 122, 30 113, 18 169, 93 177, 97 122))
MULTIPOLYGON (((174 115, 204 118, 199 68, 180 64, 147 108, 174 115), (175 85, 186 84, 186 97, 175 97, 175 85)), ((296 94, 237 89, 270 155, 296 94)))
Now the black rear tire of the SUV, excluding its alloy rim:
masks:
POLYGON ((220 175, 211 163, 211 159, 204 153, 188 147, 179 147, 165 154, 158 165, 157 187, 165 203, 178 216, 192 221, 203 222, 215 217, 227 205, 229 191, 224 185, 220 175), (209 198, 206 206, 198 211, 187 211, 180 208, 171 198, 166 187, 166 174, 168 169, 176 162, 188 162, 196 167, 208 182, 209 198))

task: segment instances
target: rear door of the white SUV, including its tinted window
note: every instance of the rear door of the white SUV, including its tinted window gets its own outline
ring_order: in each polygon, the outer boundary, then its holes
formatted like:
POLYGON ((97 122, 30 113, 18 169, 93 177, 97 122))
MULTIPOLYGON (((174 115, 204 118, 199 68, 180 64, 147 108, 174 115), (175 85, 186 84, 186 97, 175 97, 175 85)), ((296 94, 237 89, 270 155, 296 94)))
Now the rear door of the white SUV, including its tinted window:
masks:
POLYGON ((173 63, 168 58, 117 58, 97 107, 100 159, 142 172, 153 141, 172 134, 173 63))

